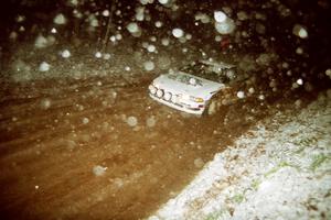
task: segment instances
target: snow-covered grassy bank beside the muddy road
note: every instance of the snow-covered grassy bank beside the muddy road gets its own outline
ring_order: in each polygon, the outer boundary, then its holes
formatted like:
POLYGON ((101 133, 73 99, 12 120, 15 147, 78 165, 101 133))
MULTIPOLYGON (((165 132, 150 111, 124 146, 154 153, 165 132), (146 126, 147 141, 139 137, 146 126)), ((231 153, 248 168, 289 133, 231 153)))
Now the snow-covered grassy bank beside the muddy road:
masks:
POLYGON ((331 219, 331 90, 261 121, 149 220, 331 219))

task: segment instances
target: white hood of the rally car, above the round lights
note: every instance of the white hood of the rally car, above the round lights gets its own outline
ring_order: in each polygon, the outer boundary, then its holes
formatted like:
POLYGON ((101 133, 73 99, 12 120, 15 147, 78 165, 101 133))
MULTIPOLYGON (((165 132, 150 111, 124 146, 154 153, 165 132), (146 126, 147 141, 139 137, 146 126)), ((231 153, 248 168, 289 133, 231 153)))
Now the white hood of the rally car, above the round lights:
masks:
POLYGON ((170 74, 160 75, 153 80, 153 84, 164 90, 174 92, 174 94, 188 94, 194 97, 204 97, 210 98, 215 92, 225 87, 224 84, 211 81, 201 77, 196 77, 183 72, 178 72, 174 75, 177 76, 188 76, 199 80, 199 85, 185 84, 169 77, 170 74))

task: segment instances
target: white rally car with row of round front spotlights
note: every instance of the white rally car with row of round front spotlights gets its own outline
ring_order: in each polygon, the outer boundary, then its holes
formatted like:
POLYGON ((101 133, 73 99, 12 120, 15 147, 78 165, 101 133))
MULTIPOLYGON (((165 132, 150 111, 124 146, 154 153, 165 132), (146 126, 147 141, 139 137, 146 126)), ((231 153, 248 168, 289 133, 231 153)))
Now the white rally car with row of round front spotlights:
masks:
POLYGON ((162 74, 149 85, 152 99, 174 109, 202 114, 211 99, 235 78, 235 66, 222 62, 200 61, 162 74))

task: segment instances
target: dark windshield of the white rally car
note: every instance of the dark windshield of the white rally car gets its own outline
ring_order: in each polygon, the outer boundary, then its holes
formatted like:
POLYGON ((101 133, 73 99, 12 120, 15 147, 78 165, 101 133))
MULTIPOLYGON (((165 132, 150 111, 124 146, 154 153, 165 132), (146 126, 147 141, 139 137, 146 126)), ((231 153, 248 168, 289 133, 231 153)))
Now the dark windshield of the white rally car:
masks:
POLYGON ((209 79, 216 82, 228 82, 234 76, 233 68, 226 68, 222 65, 211 65, 202 62, 194 62, 180 68, 181 72, 209 79))

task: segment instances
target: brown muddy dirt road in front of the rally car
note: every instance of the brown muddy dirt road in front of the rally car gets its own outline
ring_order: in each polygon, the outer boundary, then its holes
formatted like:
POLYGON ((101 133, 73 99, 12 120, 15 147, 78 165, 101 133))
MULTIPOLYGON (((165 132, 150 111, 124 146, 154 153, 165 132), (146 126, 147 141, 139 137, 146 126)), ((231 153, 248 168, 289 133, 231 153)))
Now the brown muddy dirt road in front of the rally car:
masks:
POLYGON ((257 120, 180 113, 147 96, 150 80, 3 87, 1 219, 145 218, 257 120))

